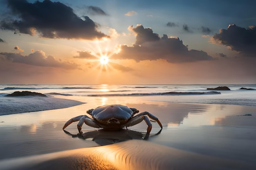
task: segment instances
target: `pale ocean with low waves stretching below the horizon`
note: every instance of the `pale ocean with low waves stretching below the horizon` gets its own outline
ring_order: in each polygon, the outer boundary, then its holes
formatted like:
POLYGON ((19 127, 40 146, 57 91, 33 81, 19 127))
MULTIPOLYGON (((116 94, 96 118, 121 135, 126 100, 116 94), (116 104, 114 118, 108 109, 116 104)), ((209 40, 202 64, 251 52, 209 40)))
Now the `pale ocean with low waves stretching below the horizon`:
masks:
POLYGON ((148 97, 161 102, 234 104, 256 106, 256 84, 239 85, 0 85, 0 97, 15 91, 31 91, 49 96, 148 97), (207 90, 227 86, 230 91, 207 90), (246 88, 246 89, 240 89, 246 88), (215 93, 218 92, 218 93, 215 93), (196 97, 195 97, 196 95, 196 97), (173 97, 175 99, 173 100, 173 97), (183 96, 183 97, 178 97, 183 96), (193 96, 193 97, 190 97, 193 96), (192 99, 192 101, 191 101, 192 99))

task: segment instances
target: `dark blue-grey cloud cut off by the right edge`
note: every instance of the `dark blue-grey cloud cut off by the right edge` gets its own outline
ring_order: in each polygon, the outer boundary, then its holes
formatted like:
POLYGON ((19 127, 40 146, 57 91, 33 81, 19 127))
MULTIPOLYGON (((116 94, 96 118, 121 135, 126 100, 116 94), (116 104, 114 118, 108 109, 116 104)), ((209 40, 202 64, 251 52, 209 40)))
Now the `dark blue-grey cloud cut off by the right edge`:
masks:
POLYGON ((213 35, 216 43, 229 46, 231 50, 243 55, 256 56, 256 27, 241 28, 235 24, 227 29, 220 29, 219 34, 213 35))

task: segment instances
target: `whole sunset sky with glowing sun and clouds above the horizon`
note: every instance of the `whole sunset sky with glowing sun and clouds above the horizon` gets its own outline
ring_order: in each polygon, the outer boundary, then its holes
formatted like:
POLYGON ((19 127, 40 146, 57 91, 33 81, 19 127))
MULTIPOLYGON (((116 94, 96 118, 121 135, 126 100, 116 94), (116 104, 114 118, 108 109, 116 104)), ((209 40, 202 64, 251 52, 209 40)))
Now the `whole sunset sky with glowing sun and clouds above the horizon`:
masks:
POLYGON ((255 0, 0 0, 0 84, 256 84, 255 0))

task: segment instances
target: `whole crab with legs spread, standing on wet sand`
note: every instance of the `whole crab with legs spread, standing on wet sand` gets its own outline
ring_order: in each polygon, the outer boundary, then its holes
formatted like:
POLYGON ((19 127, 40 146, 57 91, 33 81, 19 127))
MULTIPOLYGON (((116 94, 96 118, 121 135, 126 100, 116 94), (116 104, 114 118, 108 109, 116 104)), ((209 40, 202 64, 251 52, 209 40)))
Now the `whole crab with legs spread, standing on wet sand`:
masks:
POLYGON ((155 117, 153 114, 146 111, 139 113, 139 110, 137 110, 136 108, 129 108, 127 106, 123 106, 120 104, 99 106, 95 109, 87 110, 86 113, 91 115, 92 118, 88 117, 87 115, 73 117, 65 123, 62 129, 64 130, 73 122, 79 121, 79 123, 77 124, 77 128, 80 135, 82 135, 83 132, 81 130, 83 123, 94 128, 120 130, 124 127, 127 128, 139 124, 141 121, 144 120, 148 125, 146 133, 146 137, 148 137, 152 129, 152 124, 150 123, 148 117, 150 117, 154 121, 157 121, 157 123, 161 127, 161 130, 163 128, 159 119, 155 117), (139 114, 135 115, 136 113, 139 114))

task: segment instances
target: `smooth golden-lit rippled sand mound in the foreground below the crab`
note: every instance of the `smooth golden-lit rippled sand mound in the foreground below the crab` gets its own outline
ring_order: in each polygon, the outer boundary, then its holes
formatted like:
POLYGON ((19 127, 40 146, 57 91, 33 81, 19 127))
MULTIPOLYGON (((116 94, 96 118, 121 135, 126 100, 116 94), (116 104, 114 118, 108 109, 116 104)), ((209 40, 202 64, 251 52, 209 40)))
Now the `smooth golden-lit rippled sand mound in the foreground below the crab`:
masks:
POLYGON ((1 169, 17 170, 246 170, 243 161, 200 155, 142 140, 129 140, 95 148, 55 152, 1 162, 1 169), (10 168, 10 165, 11 168, 10 168))

